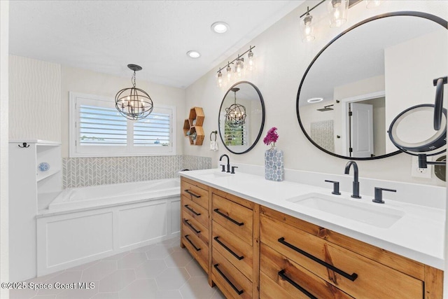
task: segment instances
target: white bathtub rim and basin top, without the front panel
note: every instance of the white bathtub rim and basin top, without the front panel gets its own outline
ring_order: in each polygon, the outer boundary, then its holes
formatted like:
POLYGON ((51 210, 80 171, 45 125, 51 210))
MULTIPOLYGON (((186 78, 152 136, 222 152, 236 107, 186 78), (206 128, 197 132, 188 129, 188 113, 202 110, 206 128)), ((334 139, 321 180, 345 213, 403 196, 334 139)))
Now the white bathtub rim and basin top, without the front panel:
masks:
POLYGON ((161 179, 133 183, 67 188, 48 206, 49 211, 104 207, 127 204, 164 196, 179 195, 179 179, 161 179))

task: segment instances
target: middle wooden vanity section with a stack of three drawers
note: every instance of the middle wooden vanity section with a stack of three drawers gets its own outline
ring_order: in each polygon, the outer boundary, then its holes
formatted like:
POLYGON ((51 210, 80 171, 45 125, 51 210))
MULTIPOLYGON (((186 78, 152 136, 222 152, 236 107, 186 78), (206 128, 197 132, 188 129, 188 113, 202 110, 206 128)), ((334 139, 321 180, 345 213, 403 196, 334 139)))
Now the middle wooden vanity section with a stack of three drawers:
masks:
POLYGON ((259 206, 212 191, 211 279, 226 298, 258 298, 259 206))

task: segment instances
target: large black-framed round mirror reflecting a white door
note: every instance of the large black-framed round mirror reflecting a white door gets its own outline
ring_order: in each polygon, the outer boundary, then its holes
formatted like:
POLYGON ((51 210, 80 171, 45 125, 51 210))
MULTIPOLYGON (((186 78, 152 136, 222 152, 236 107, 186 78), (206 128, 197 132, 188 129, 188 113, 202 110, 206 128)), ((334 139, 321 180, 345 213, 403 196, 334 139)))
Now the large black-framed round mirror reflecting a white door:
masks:
POLYGON ((434 103, 433 80, 447 76, 447 53, 447 22, 435 15, 388 13, 354 25, 305 72, 297 94, 300 127, 315 146, 339 158, 400 153, 388 127, 410 106, 434 103))

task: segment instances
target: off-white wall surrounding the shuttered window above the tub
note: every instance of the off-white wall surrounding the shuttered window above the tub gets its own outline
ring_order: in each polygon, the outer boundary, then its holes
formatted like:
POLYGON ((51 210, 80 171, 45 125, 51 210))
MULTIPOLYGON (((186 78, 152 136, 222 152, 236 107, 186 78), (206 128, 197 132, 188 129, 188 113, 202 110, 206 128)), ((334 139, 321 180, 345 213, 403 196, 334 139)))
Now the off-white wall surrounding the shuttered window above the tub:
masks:
MULTIPOLYGON (((127 77, 116 77, 95 71, 62 66, 60 94, 62 119, 59 122, 62 131, 62 158, 69 156, 69 92, 101 95, 113 100, 118 90, 132 87, 132 71, 128 73, 124 74, 129 75, 127 77)), ((138 72, 137 87, 148 92, 148 95, 153 99, 154 106, 158 104, 176 106, 176 154, 181 155, 184 139, 183 120, 188 117, 188 114, 184 113, 186 111, 185 90, 139 80, 138 72)))

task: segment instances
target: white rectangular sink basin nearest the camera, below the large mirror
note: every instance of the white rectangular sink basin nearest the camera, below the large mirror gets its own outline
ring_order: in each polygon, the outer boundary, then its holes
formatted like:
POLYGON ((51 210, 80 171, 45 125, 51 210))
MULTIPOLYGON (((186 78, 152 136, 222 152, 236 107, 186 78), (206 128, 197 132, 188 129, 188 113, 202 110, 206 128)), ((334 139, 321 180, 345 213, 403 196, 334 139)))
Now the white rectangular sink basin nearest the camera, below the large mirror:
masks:
POLYGON ((378 228, 390 228, 405 215, 404 212, 366 202, 356 202, 336 195, 308 193, 288 199, 303 207, 309 207, 328 214, 348 218, 378 228))

